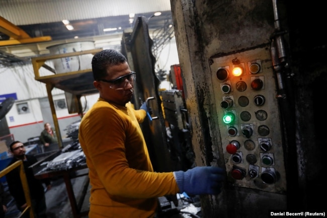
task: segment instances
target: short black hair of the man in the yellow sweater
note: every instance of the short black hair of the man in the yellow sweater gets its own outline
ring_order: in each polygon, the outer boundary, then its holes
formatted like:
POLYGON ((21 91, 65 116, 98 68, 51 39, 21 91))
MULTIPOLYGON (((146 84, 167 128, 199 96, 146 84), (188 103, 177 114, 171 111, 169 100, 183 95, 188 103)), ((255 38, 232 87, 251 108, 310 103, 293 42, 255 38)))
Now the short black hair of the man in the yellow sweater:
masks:
POLYGON ((96 53, 92 58, 93 78, 96 81, 104 79, 107 75, 107 68, 127 62, 126 57, 119 51, 105 49, 96 53))

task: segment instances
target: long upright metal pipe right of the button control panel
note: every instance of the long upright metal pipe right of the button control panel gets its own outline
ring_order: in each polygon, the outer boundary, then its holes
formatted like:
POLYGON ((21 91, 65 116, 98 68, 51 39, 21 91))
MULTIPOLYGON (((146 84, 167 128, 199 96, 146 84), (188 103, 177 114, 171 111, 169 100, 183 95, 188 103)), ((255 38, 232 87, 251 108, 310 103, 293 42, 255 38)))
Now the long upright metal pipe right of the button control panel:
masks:
POLYGON ((275 33, 272 37, 271 56, 278 83, 277 98, 280 103, 281 121, 283 131, 283 150, 287 181, 287 207, 289 209, 300 208, 303 204, 303 198, 300 196, 299 175, 297 163, 297 145, 296 145, 296 116, 294 102, 294 88, 292 74, 287 63, 283 35, 278 18, 277 0, 273 0, 275 15, 275 33), (285 86, 284 86, 285 85, 285 86))

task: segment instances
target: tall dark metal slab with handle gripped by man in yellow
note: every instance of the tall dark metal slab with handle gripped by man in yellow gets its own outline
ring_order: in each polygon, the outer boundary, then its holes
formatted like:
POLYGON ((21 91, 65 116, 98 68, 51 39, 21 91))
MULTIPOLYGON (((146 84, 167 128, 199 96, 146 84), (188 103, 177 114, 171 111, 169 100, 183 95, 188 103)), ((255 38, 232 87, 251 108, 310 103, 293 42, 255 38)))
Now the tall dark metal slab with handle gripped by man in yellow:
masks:
POLYGON ((135 108, 149 97, 154 97, 148 106, 151 116, 157 119, 145 121, 141 128, 149 150, 153 168, 157 172, 176 170, 176 164, 170 158, 167 144, 165 120, 161 110, 161 100, 158 93, 159 80, 155 75, 155 58, 151 52, 152 40, 148 33, 148 19, 138 17, 132 33, 125 33, 122 40, 122 53, 128 59, 129 65, 136 72, 133 103, 135 108))

